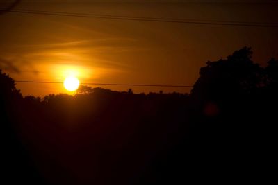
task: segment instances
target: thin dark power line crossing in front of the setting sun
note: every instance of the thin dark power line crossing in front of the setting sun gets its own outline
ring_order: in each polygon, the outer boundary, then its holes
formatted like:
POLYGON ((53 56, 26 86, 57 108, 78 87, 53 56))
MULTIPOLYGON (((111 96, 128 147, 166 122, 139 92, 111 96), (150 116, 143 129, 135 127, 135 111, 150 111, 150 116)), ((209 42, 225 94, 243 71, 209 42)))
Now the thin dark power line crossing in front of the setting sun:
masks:
MULTIPOLYGON (((44 84, 63 84, 63 82, 49 81, 28 81, 15 80, 18 83, 44 83, 44 84)), ((80 83, 81 85, 111 85, 111 86, 134 86, 134 87, 193 87, 193 85, 150 85, 150 84, 117 84, 117 83, 80 83)))

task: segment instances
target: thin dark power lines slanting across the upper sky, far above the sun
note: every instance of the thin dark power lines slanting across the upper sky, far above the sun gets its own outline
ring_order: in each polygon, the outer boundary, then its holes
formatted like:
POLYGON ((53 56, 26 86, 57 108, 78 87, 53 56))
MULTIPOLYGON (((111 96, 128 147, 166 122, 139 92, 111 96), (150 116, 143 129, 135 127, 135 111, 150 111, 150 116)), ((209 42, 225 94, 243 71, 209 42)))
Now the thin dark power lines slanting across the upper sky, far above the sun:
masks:
POLYGON ((278 24, 262 24, 262 23, 247 23, 236 21, 208 21, 208 20, 195 20, 195 19, 170 19, 170 18, 154 18, 154 17, 129 17, 129 16, 115 16, 115 15, 92 15, 82 14, 75 12, 52 12, 52 11, 39 11, 39 10, 9 10, 9 12, 33 14, 33 15, 54 15, 65 17, 86 17, 97 19, 117 19, 129 21, 155 21, 166 23, 179 23, 179 24, 205 24, 205 25, 219 25, 219 26, 250 26, 250 27, 278 27, 278 24))

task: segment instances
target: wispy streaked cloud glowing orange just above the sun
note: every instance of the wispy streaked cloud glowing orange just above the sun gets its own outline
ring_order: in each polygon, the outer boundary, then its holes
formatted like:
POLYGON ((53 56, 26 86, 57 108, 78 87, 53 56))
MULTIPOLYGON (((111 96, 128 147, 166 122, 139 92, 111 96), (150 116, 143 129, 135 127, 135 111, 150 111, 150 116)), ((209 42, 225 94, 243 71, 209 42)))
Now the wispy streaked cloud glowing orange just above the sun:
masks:
POLYGON ((48 67, 59 65, 119 73, 130 67, 123 56, 138 50, 142 48, 136 45, 135 39, 120 37, 23 44, 0 53, 0 68, 9 73, 24 73, 24 76, 45 73, 48 67))

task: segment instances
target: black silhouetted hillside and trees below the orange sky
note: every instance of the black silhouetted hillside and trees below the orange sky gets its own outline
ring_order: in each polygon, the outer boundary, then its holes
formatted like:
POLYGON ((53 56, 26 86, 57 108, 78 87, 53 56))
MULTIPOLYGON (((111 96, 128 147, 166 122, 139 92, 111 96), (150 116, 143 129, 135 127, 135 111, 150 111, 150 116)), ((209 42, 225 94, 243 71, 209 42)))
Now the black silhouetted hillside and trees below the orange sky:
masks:
POLYGON ((0 71, 3 182, 266 182, 276 157, 278 60, 250 48, 206 62, 190 94, 23 97, 0 71))

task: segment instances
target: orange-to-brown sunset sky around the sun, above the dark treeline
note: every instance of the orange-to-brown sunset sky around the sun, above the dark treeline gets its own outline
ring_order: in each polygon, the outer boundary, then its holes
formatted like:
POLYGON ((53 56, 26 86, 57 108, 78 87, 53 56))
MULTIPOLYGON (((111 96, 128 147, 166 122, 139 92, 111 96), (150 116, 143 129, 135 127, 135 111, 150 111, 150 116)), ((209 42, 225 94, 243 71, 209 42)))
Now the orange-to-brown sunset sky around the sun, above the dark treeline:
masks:
MULTIPOLYGON (((1 1, 0 7, 7 6, 7 2, 1 1)), ((278 23, 278 3, 168 2, 171 3, 29 0, 21 1, 15 9, 278 23)), ((69 73, 75 73, 81 82, 193 85, 199 77, 199 68, 206 61, 225 58, 243 46, 252 47, 254 61, 260 64, 265 64, 272 57, 278 58, 278 28, 126 21, 15 12, 0 15, 0 26, 0 69, 15 80, 63 82, 69 73)), ((63 85, 59 84, 18 83, 17 88, 24 95, 35 96, 66 92, 63 85)), ((130 87, 107 88, 127 90, 130 87)), ((136 93, 160 89, 190 91, 186 88, 131 88, 136 93)))

